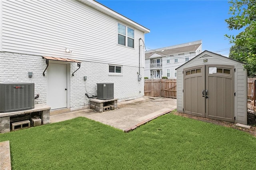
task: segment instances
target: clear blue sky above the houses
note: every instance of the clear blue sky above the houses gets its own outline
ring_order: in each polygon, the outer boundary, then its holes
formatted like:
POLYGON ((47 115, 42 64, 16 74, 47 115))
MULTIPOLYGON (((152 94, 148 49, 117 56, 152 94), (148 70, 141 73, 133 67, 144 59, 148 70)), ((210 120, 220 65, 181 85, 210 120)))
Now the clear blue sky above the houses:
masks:
POLYGON ((227 0, 98 0, 108 8, 150 29, 145 34, 147 50, 202 40, 202 49, 228 56, 232 44, 225 34, 227 0))

